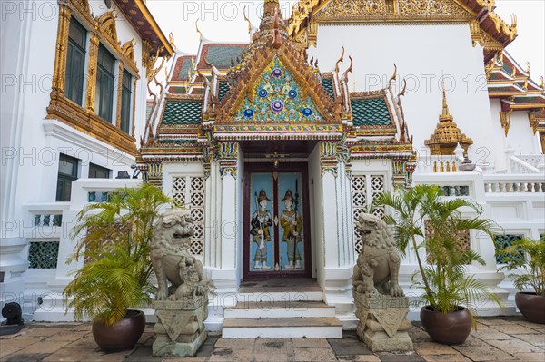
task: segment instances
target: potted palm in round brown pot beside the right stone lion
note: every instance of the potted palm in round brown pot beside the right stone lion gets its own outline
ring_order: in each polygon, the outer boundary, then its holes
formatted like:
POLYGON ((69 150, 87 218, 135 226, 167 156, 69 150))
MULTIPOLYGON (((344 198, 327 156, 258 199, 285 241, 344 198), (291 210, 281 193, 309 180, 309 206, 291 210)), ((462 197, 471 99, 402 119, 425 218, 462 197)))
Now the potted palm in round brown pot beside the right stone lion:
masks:
POLYGON ((405 255, 415 251, 418 270, 413 286, 421 289, 418 300, 421 323, 431 338, 443 344, 461 344, 475 326, 473 305, 483 298, 500 300, 486 284, 466 273, 471 263, 484 265, 481 256, 461 247, 461 233, 479 230, 490 236, 496 229, 491 220, 481 219, 481 207, 468 199, 444 198, 439 186, 417 185, 410 190, 384 192, 374 201, 393 209, 384 220, 393 225, 398 247, 405 255), (477 217, 461 217, 461 208, 469 208, 477 217), (425 232, 426 224, 429 231, 425 232), (425 250, 422 260, 419 250, 425 250))

